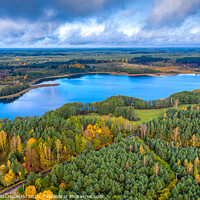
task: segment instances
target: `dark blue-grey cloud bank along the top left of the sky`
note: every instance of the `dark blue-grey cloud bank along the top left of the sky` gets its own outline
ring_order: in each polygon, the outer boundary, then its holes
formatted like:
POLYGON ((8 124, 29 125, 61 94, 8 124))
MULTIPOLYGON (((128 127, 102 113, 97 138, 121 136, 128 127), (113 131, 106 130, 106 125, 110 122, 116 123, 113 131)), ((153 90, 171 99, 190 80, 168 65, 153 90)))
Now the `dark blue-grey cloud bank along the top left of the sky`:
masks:
POLYGON ((132 0, 0 0, 0 17, 74 20, 123 9, 132 0))

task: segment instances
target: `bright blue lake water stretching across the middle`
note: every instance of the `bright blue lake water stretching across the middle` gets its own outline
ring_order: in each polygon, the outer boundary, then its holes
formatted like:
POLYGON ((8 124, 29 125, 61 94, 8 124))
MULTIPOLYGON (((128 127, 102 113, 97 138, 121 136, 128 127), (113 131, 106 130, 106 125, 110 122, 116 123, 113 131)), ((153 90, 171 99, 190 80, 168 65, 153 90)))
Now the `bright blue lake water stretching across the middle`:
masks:
POLYGON ((144 100, 161 99, 180 91, 200 89, 199 75, 164 77, 129 77, 114 75, 85 75, 43 83, 59 86, 37 88, 12 103, 0 103, 0 118, 41 116, 69 102, 95 102, 112 95, 126 95, 144 100))

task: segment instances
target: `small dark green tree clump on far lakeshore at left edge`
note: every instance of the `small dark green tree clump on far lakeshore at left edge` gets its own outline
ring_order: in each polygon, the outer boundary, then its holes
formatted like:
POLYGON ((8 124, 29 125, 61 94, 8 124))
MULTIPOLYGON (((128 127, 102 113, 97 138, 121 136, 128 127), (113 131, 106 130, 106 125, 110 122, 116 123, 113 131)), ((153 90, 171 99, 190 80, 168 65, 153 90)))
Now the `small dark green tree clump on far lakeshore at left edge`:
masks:
POLYGON ((29 87, 30 87, 30 85, 28 85, 28 84, 5 86, 0 90, 0 97, 11 95, 11 94, 16 94, 16 93, 18 93, 24 89, 27 89, 29 87))

